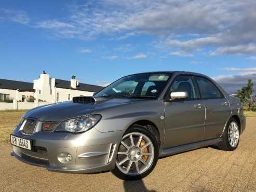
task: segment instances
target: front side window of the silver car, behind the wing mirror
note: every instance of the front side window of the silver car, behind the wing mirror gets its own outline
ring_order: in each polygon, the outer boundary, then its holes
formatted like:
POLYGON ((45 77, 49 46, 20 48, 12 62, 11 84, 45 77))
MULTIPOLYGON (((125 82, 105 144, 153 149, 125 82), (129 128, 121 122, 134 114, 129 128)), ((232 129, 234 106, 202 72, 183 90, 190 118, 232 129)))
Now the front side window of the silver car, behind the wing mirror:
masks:
POLYGON ((174 79, 169 92, 187 92, 187 99, 199 99, 199 92, 193 82, 192 76, 178 76, 174 79))

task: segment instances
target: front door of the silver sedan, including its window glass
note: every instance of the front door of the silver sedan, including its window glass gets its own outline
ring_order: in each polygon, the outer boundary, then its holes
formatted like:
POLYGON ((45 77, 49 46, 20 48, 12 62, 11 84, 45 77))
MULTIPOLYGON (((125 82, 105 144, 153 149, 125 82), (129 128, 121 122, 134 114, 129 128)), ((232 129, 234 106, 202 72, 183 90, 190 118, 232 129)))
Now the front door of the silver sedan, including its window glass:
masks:
POLYGON ((205 132, 205 104, 192 76, 174 79, 168 94, 185 91, 188 98, 165 102, 165 147, 173 147, 202 141, 205 132))

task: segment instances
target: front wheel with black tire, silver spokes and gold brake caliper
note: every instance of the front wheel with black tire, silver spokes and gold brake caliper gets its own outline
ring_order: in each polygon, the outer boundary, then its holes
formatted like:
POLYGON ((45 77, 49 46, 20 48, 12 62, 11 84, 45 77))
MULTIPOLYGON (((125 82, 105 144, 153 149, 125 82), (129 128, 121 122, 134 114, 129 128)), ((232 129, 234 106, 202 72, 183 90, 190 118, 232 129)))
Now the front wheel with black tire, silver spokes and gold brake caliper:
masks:
POLYGON ((120 142, 112 173, 122 180, 140 180, 153 171, 158 154, 158 141, 153 133, 143 126, 133 125, 120 142))

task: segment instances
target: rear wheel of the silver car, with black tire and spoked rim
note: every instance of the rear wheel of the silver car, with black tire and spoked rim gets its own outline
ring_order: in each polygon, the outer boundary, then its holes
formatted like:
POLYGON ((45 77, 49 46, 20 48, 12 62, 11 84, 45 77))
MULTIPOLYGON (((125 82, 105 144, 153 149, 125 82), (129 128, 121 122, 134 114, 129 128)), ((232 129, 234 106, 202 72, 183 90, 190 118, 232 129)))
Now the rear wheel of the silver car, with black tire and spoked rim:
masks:
POLYGON ((225 130, 222 134, 222 142, 218 143, 218 147, 221 150, 228 150, 228 151, 235 150, 239 144, 239 140, 240 140, 239 124, 235 118, 231 118, 225 127, 225 130))

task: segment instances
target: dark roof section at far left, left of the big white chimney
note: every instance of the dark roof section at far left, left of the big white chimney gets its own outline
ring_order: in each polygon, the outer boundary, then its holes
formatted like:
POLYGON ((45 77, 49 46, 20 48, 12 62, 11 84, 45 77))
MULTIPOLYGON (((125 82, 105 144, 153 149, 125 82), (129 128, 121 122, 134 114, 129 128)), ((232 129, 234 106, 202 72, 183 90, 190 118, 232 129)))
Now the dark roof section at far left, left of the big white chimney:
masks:
POLYGON ((0 89, 13 89, 13 90, 33 90, 33 83, 17 81, 17 80, 7 80, 0 79, 0 89))

